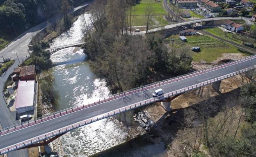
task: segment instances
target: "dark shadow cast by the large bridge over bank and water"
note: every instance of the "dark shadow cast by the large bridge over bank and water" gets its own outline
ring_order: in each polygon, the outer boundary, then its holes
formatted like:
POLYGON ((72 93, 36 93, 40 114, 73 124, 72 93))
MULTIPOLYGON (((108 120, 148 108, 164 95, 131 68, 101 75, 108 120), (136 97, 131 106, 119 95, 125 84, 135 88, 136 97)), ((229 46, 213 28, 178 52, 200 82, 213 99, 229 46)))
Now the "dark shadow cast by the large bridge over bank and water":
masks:
MULTIPOLYGON (((207 112, 208 117, 215 117, 222 111, 222 108, 234 107, 237 101, 234 97, 238 97, 239 93, 240 88, 237 88, 227 93, 219 93, 217 96, 192 104, 187 108, 179 108, 170 113, 163 113, 162 117, 151 126, 150 131, 146 134, 139 135, 135 139, 90 157, 168 157, 167 146, 177 137, 178 130, 186 127, 188 119, 193 120, 194 124, 191 128, 202 124, 199 118, 199 108, 207 112), (207 107, 202 108, 202 106, 207 107)), ((151 105, 160 107, 160 104, 151 105)), ((130 122, 126 124, 127 126, 138 125, 137 122, 133 121, 133 115, 146 108, 147 106, 137 108, 134 111, 128 111, 128 114, 115 116, 115 118, 121 122, 130 122)))

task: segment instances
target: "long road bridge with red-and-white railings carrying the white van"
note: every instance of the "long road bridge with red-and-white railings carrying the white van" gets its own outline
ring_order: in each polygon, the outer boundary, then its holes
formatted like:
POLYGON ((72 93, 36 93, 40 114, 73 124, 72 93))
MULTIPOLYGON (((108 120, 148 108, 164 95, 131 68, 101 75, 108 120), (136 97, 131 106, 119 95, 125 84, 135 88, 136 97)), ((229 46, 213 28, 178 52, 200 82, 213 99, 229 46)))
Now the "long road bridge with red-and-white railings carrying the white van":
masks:
MULTIPOLYGON (((218 91, 221 80, 256 68, 256 55, 229 62, 213 68, 196 71, 179 77, 155 82, 146 86, 103 97, 97 102, 80 104, 72 108, 40 117, 0 130, 0 155, 26 148, 37 142, 56 138, 75 128, 132 110, 154 102, 168 102, 171 97, 213 84, 218 91), (164 95, 152 97, 153 91, 162 88, 164 95)), ((171 102, 162 104, 167 111, 171 102)))

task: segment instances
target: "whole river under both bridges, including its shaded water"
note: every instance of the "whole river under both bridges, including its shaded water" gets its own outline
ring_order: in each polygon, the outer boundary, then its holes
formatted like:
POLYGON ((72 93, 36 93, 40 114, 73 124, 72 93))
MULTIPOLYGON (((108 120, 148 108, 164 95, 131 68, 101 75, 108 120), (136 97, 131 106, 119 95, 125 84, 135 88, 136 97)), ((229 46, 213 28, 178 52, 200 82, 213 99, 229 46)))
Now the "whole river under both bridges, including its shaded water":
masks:
MULTIPOLYGON (((84 16, 89 23, 88 14, 85 13, 84 16)), ((73 23, 68 34, 63 33, 53 40, 50 46, 77 43, 82 40, 82 36, 81 15, 73 23)), ((51 56, 51 60, 57 63, 53 67, 54 93, 56 93, 55 111, 88 104, 100 97, 110 95, 105 81, 98 79, 90 70, 89 64, 86 62, 86 55, 82 50, 73 53, 74 49, 63 49, 51 56)), ((150 145, 147 142, 142 142, 144 140, 139 138, 127 142, 131 138, 128 127, 135 125, 132 119, 133 114, 133 111, 122 113, 118 118, 103 119, 66 133, 61 137, 64 153, 68 157, 87 157, 96 153, 98 154, 95 156, 103 157, 140 157, 144 155, 161 157, 165 152, 162 143, 150 145), (117 119, 124 119, 124 122, 119 122, 117 119), (122 145, 119 146, 119 144, 122 145), (103 153, 100 153, 102 151, 103 153)))

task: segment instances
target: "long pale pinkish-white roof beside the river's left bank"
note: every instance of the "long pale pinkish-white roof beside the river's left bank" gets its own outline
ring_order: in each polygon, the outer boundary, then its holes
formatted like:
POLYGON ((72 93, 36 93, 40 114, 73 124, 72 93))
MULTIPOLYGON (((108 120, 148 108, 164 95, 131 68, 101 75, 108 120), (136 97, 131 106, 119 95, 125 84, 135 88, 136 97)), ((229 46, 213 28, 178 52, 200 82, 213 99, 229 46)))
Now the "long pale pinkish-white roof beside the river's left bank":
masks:
POLYGON ((34 80, 19 80, 15 108, 23 108, 34 105, 34 80))

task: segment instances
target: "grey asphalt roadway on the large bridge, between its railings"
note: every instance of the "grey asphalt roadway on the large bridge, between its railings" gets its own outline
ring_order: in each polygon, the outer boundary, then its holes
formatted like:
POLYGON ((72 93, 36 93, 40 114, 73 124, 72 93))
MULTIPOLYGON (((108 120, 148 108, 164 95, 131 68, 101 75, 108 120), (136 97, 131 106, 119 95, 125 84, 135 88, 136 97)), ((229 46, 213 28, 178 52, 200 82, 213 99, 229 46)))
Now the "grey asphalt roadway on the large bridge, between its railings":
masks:
POLYGON ((179 90, 181 88, 185 88, 187 86, 192 86, 192 85, 199 84, 201 82, 205 82, 217 77, 221 77, 223 75, 227 75, 229 73, 233 73, 240 69, 245 69, 249 66, 254 66, 255 64, 256 64, 256 59, 254 58, 251 60, 233 64, 231 66, 227 66, 221 69, 209 71, 207 73, 195 75, 193 77, 188 77, 183 80, 179 80, 176 82, 171 82, 169 84, 151 88, 145 91, 126 95, 124 97, 120 97, 102 104, 98 104, 95 106, 91 106, 89 108, 75 111, 73 113, 62 115, 60 117, 56 117, 54 119, 50 119, 48 121, 45 121, 39 124, 35 124, 32 126, 23 128, 21 130, 16 130, 6 135, 0 136, 0 149, 21 143, 23 141, 32 139, 34 137, 38 137, 40 135, 44 135, 53 130, 57 130, 59 128, 63 128, 63 127, 75 124, 85 119, 89 119, 97 115, 108 113, 118 108, 128 106, 130 104, 135 104, 137 102, 147 100, 152 97, 153 91, 155 91, 158 88, 162 88, 165 93, 169 93, 172 91, 179 90))

